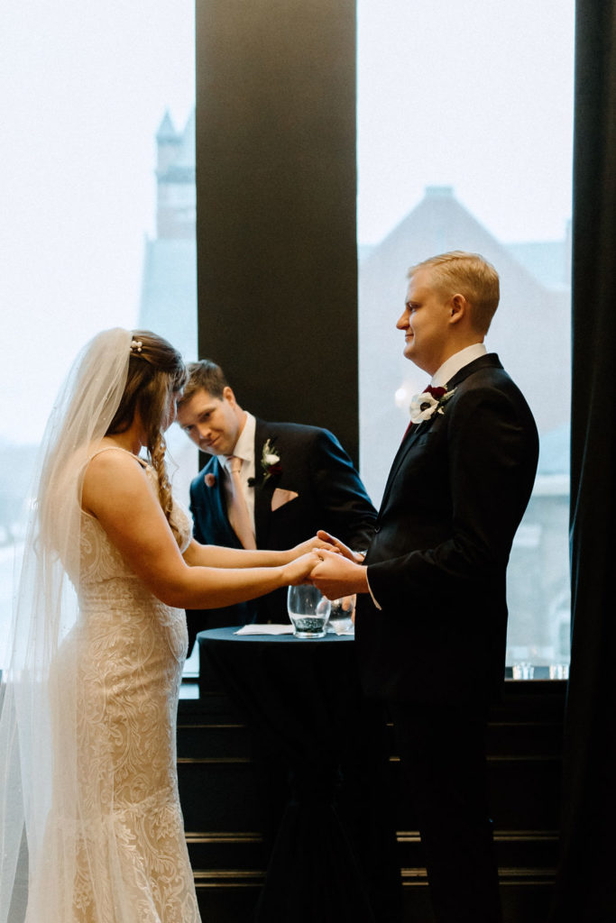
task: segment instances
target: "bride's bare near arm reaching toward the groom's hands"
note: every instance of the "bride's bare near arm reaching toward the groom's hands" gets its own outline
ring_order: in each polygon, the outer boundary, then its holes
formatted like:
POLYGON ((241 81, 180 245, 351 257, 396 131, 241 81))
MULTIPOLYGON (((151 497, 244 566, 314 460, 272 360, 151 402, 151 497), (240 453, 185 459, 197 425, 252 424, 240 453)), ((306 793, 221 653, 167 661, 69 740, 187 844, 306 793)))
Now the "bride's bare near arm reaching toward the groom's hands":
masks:
POLYGON ((128 566, 167 605, 233 605, 301 583, 318 562, 309 552, 275 567, 188 567, 145 473, 124 452, 102 452, 92 459, 81 505, 101 523, 128 566))

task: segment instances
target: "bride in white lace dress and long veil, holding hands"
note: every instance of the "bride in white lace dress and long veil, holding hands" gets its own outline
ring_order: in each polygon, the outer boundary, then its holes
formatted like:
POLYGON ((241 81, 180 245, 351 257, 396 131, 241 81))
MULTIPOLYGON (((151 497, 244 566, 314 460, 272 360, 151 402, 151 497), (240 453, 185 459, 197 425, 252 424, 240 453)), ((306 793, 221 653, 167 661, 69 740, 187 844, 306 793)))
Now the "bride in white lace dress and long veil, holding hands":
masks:
POLYGON ((0 688, 0 923, 199 921, 175 772, 183 609, 302 582, 324 543, 191 538, 164 464, 184 381, 162 338, 106 330, 47 426, 0 688))

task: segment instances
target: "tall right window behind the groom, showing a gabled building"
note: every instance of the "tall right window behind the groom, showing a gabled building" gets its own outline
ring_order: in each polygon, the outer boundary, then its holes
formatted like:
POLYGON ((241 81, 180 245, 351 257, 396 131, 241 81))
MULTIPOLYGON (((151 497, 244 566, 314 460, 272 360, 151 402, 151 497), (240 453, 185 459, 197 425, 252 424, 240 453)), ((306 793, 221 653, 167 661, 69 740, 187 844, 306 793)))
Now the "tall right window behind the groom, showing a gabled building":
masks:
POLYGON ((446 250, 483 254, 501 274, 487 344, 541 443, 509 569, 507 662, 549 675, 569 659, 574 0, 357 11, 362 475, 378 502, 426 383, 395 330, 406 270, 446 250))

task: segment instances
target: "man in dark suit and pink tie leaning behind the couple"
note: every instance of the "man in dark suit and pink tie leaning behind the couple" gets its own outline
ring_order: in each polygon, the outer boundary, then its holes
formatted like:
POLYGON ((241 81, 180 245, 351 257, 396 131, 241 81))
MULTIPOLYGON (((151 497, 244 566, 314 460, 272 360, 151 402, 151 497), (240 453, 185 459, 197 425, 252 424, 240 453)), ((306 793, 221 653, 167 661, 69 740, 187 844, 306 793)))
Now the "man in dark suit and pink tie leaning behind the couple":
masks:
MULTIPOLYGON (((211 459, 190 485, 194 535, 203 545, 282 549, 325 529, 368 547, 376 510, 351 459, 318 426, 268 423, 243 410, 223 370, 191 363, 177 422, 211 459)), ((288 621, 286 593, 187 612, 188 650, 199 631, 288 621)))

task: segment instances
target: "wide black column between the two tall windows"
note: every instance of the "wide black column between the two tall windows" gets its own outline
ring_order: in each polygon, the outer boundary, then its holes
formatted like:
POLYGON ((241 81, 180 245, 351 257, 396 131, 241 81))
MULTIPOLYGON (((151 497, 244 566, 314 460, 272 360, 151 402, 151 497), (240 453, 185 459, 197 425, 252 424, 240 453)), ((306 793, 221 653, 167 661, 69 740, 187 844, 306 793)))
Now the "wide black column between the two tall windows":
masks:
POLYGON ((357 460, 354 0, 198 0, 199 355, 357 460))

